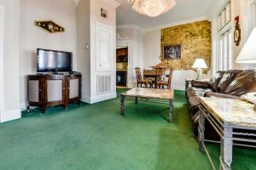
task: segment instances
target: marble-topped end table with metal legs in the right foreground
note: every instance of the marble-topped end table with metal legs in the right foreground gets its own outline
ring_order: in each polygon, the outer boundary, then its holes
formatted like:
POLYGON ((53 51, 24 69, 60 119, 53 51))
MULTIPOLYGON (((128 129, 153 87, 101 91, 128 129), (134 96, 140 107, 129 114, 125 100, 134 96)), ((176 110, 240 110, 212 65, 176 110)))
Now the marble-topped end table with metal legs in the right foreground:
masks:
MULTIPOLYGON (((253 104, 240 99, 200 98, 199 150, 206 151, 212 163, 204 144, 206 119, 221 137, 219 169, 230 170, 233 144, 240 142, 239 145, 253 146, 250 144, 256 143, 256 111, 253 104)), ((216 169, 213 163, 212 167, 216 169)))

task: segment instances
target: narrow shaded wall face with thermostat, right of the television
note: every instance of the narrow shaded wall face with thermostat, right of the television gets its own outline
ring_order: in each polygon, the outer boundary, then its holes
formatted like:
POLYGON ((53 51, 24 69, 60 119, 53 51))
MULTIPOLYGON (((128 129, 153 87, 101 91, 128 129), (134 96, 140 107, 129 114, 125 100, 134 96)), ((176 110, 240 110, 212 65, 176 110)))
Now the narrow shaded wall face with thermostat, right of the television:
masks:
POLYGON ((90 0, 81 0, 78 4, 77 34, 79 35, 78 68, 83 75, 82 101, 88 102, 90 100, 90 0))

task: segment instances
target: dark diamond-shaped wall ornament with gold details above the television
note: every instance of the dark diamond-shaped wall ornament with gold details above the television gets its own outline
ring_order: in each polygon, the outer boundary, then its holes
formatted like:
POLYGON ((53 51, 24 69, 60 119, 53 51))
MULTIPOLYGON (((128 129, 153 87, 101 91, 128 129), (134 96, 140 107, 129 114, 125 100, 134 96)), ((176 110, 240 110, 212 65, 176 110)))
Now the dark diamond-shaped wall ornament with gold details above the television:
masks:
POLYGON ((43 28, 45 31, 48 31, 49 33, 57 33, 57 32, 64 32, 65 28, 57 25, 52 20, 36 20, 35 26, 38 26, 40 28, 43 28))

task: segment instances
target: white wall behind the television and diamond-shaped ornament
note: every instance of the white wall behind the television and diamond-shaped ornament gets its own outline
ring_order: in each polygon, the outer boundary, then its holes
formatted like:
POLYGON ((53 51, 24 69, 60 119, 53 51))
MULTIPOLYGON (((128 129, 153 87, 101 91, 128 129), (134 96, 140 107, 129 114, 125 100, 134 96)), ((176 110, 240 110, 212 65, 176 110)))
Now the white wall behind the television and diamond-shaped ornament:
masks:
POLYGON ((76 4, 63 0, 20 1, 20 104, 26 108, 26 75, 36 73, 36 49, 73 52, 73 70, 77 71, 76 4), (53 20, 65 32, 49 34, 34 26, 35 20, 53 20))

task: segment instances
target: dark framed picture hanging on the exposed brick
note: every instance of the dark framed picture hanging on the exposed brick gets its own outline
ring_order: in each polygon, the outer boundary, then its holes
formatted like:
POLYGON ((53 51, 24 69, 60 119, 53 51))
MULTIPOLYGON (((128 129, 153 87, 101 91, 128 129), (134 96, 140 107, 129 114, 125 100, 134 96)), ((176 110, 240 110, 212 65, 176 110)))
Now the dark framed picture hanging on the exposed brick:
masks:
POLYGON ((181 45, 166 45, 163 49, 164 59, 181 59, 181 45))

